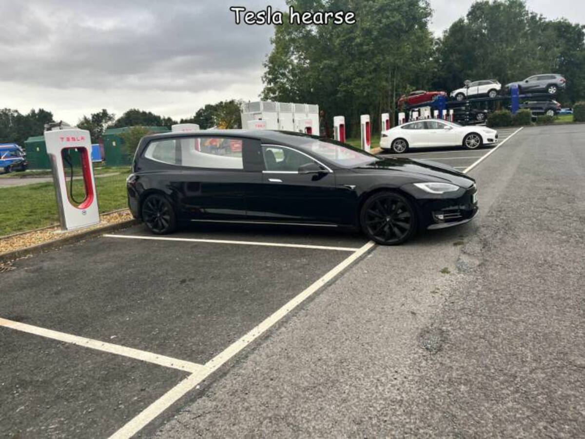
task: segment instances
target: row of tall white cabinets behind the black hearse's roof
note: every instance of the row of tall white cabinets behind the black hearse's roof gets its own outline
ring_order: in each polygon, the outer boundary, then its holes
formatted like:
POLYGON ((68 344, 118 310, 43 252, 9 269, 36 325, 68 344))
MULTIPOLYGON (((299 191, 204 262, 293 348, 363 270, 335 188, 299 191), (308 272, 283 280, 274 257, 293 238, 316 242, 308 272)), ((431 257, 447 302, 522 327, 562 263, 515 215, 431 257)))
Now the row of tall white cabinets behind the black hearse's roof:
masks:
POLYGON ((319 135, 319 105, 257 101, 242 105, 242 128, 319 135), (264 128, 259 128, 264 127, 264 128))

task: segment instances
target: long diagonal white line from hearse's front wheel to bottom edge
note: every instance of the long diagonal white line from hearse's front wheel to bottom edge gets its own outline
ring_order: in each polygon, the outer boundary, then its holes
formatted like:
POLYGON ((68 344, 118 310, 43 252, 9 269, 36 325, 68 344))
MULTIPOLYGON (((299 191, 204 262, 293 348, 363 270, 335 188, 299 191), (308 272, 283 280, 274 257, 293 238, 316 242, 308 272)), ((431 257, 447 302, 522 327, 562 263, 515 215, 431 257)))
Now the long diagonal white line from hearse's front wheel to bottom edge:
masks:
POLYGON ((253 328, 242 338, 233 342, 233 344, 231 344, 223 352, 216 355, 209 362, 205 363, 204 369, 193 373, 191 376, 174 386, 155 402, 150 404, 150 406, 146 407, 146 409, 139 413, 134 419, 130 420, 128 424, 116 431, 116 433, 114 433, 111 438, 130 438, 138 433, 140 430, 142 430, 142 428, 147 426, 147 424, 159 416, 159 414, 163 413, 164 410, 168 409, 168 407, 177 402, 178 399, 194 389, 195 386, 201 383, 202 380, 211 375, 212 372, 216 371, 216 369, 229 361, 229 359, 233 358, 234 355, 242 351, 243 348, 260 337, 260 335, 264 334, 264 332, 269 330, 274 324, 281 320, 281 318, 294 310, 294 308, 301 304, 302 301, 314 294, 315 291, 319 290, 322 286, 339 275, 339 273, 343 272, 343 270, 349 267, 353 262, 366 254, 373 246, 374 242, 372 241, 363 245, 360 249, 350 255, 349 258, 346 258, 343 260, 343 262, 339 263, 332 270, 326 273, 325 276, 316 280, 306 290, 302 291, 300 294, 298 294, 298 296, 294 297, 294 299, 290 300, 287 304, 278 309, 274 314, 270 315, 270 317, 266 318, 266 320, 253 328))

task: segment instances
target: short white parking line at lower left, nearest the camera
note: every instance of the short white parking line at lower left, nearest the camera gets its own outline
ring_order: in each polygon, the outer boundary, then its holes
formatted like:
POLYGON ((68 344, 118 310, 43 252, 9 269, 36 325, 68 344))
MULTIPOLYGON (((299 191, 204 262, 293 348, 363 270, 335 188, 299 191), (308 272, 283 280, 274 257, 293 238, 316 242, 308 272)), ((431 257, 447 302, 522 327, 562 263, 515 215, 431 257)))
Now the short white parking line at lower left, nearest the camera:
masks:
POLYGON ((152 352, 140 351, 140 349, 127 348, 125 346, 114 345, 104 341, 94 340, 91 338, 79 337, 78 335, 66 334, 65 332, 53 331, 45 328, 39 328, 18 321, 7 320, 0 317, 0 327, 11 328, 16 331, 28 332, 29 334, 40 335, 40 337, 51 338, 53 340, 64 341, 84 348, 95 349, 97 351, 108 352, 127 356, 148 363, 165 366, 167 368, 179 369, 180 371, 197 373, 204 369, 205 366, 190 361, 183 361, 169 356, 153 354, 152 352))

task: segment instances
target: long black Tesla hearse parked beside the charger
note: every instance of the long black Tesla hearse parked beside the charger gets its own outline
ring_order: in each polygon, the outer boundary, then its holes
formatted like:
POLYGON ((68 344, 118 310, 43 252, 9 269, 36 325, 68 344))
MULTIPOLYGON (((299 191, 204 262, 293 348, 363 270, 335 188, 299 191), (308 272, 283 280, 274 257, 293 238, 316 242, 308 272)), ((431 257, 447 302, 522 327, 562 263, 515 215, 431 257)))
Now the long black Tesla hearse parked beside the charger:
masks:
POLYGON ((352 227, 395 245, 477 213, 475 181, 452 167, 283 131, 146 136, 127 186, 154 234, 194 222, 352 227))

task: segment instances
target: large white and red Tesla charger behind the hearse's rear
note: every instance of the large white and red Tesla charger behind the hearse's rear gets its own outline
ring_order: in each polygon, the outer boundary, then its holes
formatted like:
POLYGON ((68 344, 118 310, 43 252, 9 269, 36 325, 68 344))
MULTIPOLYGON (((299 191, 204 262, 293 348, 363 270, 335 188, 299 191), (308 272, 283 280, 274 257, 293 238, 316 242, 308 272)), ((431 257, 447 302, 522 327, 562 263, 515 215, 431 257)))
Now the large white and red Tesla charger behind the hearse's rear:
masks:
POLYGON ((73 230, 98 224, 98 197, 95 190, 94 168, 91 163, 90 132, 78 128, 45 131, 44 142, 53 169, 61 229, 73 230), (79 153, 81 162, 85 190, 82 200, 75 200, 73 194, 67 190, 68 184, 70 188, 73 185, 73 164, 69 153, 74 151, 79 153), (66 164, 72 173, 69 181, 65 174, 66 164))

